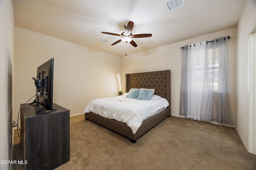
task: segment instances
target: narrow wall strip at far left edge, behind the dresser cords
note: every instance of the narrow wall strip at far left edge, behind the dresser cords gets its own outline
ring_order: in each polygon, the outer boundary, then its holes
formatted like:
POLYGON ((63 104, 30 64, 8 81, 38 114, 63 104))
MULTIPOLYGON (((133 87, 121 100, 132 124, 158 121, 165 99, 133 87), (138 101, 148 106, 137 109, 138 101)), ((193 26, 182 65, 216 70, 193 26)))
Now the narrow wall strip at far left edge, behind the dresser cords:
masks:
MULTIPOLYGON (((12 1, 0 1, 0 160, 11 160, 14 16, 12 1)), ((0 164, 1 170, 10 164, 0 164)))

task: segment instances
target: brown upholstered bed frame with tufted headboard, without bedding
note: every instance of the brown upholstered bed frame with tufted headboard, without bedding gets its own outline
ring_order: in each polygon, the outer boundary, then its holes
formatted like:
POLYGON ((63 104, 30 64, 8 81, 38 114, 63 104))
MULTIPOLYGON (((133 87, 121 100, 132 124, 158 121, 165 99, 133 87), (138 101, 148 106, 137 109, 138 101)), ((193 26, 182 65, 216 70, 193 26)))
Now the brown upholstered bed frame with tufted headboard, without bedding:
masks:
POLYGON ((158 114, 144 120, 135 134, 126 123, 122 123, 114 119, 107 119, 92 112, 84 113, 85 120, 90 120, 98 125, 113 130, 114 132, 126 136, 131 142, 136 143, 136 140, 140 136, 156 126, 158 123, 162 122, 167 117, 171 116, 170 74, 170 70, 126 74, 126 93, 128 93, 130 89, 155 89, 154 94, 163 97, 169 103, 166 109, 163 109, 158 114))

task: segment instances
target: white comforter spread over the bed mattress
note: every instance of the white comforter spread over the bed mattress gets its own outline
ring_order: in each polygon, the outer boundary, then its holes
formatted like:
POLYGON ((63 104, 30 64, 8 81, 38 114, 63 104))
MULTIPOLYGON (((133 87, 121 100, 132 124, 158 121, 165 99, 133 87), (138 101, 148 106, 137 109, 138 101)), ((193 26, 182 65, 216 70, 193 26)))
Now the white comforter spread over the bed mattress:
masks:
POLYGON ((158 95, 154 95, 151 100, 130 99, 126 95, 94 99, 88 103, 83 115, 93 112, 126 123, 135 134, 144 120, 169 105, 166 99, 158 95), (122 99, 124 101, 120 101, 122 99))

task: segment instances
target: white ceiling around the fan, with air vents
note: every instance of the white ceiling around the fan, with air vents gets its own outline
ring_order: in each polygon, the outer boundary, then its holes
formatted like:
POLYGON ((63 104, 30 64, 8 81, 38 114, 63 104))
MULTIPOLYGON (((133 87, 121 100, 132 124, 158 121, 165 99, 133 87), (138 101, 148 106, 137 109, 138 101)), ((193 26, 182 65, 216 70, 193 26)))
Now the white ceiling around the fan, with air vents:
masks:
MULTIPOLYGON (((14 0, 14 25, 117 56, 180 42, 237 26, 246 0, 184 0, 168 12, 168 0, 14 0), (138 47, 117 43, 128 21, 138 47), (105 38, 109 42, 98 40, 105 38)), ((224 35, 226 36, 226 35, 224 35)), ((185 44, 184 44, 185 45, 185 44)))

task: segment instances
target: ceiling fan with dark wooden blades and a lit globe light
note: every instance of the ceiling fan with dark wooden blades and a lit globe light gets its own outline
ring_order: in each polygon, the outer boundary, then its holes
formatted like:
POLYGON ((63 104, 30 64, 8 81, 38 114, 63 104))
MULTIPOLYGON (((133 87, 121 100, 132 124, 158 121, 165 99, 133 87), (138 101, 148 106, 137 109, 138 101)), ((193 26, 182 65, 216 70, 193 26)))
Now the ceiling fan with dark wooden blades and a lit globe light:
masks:
POLYGON ((134 47, 137 47, 138 45, 132 40, 132 38, 144 38, 144 37, 151 37, 152 34, 136 34, 136 35, 132 35, 132 28, 133 28, 133 24, 134 22, 129 21, 127 25, 124 25, 124 28, 126 29, 125 32, 123 32, 122 34, 115 34, 115 33, 110 33, 110 32, 101 32, 103 34, 110 34, 113 36, 120 36, 121 39, 112 43, 111 45, 115 45, 119 42, 124 42, 124 43, 130 43, 132 44, 134 47))

